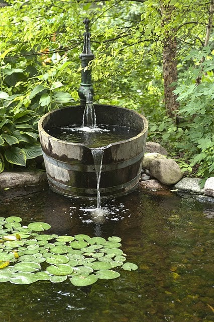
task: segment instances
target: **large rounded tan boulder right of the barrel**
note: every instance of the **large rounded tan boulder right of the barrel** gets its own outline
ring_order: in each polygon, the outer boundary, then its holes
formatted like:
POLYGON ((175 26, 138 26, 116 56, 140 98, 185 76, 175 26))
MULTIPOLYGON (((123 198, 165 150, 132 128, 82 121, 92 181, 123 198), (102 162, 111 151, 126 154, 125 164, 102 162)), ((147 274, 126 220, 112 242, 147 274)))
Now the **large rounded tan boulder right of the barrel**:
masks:
POLYGON ((174 185, 183 177, 180 167, 173 159, 154 159, 150 164, 150 174, 164 185, 174 185))

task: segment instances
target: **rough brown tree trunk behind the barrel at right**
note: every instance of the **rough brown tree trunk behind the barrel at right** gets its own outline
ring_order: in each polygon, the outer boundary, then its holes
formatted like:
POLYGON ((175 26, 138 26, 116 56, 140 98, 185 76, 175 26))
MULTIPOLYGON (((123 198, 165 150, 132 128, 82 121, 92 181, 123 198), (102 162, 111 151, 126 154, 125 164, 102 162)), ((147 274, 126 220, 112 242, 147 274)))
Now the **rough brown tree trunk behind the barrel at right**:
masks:
POLYGON ((176 102, 177 96, 173 94, 175 87, 171 86, 172 83, 177 82, 176 30, 167 26, 171 21, 173 11, 173 6, 162 6, 162 27, 165 29, 163 45, 164 102, 166 113, 171 118, 175 118, 175 112, 179 107, 178 102, 176 102))

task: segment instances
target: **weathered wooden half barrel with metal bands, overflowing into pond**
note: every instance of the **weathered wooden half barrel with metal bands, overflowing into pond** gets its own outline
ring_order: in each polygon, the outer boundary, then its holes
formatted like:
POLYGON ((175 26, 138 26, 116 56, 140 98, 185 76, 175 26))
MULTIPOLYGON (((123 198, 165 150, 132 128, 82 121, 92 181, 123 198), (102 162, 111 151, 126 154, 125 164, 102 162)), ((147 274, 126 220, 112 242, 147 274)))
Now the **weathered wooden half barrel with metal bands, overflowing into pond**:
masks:
MULTIPOLYGON (((128 140, 104 149, 100 196, 117 197, 135 190, 139 183, 146 146, 148 121, 126 108, 94 104, 96 124, 127 126, 139 131, 128 140)), ((72 106, 44 115, 38 124, 41 147, 50 188, 62 195, 96 197, 96 173, 90 148, 48 134, 55 127, 81 125, 84 108, 72 106)))

